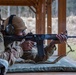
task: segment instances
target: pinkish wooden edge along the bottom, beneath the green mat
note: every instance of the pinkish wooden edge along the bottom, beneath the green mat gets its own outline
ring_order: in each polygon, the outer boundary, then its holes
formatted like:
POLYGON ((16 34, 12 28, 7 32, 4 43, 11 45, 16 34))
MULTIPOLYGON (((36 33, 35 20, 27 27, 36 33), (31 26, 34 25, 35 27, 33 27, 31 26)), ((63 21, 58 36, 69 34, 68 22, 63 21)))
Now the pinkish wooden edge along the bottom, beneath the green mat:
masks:
POLYGON ((76 72, 8 73, 6 75, 76 75, 76 72))

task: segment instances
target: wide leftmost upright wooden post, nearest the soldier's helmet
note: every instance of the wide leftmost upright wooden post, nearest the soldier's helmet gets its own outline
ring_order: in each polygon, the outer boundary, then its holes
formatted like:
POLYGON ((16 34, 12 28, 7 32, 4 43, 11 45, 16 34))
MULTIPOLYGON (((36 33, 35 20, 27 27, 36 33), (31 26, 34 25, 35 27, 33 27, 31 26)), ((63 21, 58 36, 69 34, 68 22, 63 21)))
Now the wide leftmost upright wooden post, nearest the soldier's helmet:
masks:
POLYGON ((45 0, 39 0, 36 9, 36 33, 45 33, 45 0))

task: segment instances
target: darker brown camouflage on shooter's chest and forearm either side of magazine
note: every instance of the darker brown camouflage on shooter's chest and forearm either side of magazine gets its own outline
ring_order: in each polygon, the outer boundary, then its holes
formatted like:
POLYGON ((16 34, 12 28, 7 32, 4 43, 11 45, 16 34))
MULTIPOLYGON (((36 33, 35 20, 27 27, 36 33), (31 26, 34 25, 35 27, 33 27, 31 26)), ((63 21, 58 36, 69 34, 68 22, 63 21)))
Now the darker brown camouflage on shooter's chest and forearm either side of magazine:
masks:
MULTIPOLYGON (((52 46, 51 44, 49 44, 48 46, 46 46, 44 48, 44 50, 45 50, 45 56, 42 59, 42 61, 46 61, 50 56, 52 56, 52 54, 56 50, 56 46, 55 45, 52 46)), ((35 62, 36 61, 38 62, 39 60, 36 57, 37 54, 38 54, 37 47, 33 47, 32 50, 26 50, 26 51, 24 51, 21 58, 23 58, 25 60, 33 60, 35 62)))

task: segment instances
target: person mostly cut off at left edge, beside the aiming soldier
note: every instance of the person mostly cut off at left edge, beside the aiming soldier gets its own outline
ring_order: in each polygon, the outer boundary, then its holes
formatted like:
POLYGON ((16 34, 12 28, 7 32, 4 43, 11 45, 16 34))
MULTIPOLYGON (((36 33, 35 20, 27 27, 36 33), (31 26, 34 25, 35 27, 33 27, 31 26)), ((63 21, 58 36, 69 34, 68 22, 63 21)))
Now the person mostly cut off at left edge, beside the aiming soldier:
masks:
MULTIPOLYGON (((4 47, 4 40, 3 35, 0 32, 0 57, 1 54, 4 53, 5 47, 4 47)), ((8 69, 8 61, 5 59, 0 58, 0 75, 5 75, 8 69)))

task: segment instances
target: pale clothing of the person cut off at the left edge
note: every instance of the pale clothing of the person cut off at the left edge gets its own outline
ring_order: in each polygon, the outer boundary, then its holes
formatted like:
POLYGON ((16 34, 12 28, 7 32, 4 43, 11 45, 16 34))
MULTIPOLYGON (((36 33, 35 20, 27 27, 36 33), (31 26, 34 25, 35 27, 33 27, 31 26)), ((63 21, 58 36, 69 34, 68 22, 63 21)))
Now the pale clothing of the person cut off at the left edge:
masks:
MULTIPOLYGON (((4 50, 5 50, 5 47, 4 47, 4 40, 3 40, 3 35, 2 33, 0 32, 0 65, 3 65, 5 68, 3 69, 3 74, 2 75, 5 75, 6 72, 7 72, 7 69, 8 69, 8 61, 5 60, 3 56, 4 54, 4 50)), ((1 69, 1 68, 0 68, 1 69)))

